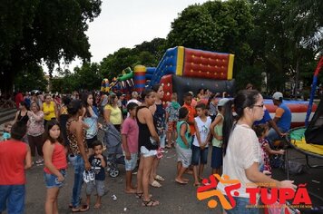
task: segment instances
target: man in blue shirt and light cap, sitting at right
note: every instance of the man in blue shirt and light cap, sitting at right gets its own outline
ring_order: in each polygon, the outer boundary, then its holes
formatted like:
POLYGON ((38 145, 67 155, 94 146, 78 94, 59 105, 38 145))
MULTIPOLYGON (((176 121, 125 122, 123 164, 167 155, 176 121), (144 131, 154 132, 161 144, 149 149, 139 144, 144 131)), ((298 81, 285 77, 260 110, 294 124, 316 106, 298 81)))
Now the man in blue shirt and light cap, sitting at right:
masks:
POLYGON ((272 145, 274 141, 281 139, 290 128, 291 112, 289 107, 283 102, 283 94, 281 92, 275 92, 272 95, 272 102, 277 105, 278 108, 275 113, 273 121, 277 124, 278 130, 271 128, 269 130, 269 143, 272 145))

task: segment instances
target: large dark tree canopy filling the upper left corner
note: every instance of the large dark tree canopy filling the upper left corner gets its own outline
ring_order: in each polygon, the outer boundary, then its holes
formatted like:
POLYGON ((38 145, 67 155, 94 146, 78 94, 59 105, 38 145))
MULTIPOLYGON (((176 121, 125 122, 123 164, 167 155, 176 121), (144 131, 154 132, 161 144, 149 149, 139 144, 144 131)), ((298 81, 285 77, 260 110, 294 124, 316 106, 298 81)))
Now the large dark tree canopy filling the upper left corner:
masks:
POLYGON ((90 60, 90 44, 84 32, 88 23, 100 15, 101 0, 19 2, 0 3, 0 32, 9 29, 1 41, 5 49, 0 49, 2 89, 8 91, 16 73, 30 63, 46 63, 51 74, 54 64, 61 60, 90 60))

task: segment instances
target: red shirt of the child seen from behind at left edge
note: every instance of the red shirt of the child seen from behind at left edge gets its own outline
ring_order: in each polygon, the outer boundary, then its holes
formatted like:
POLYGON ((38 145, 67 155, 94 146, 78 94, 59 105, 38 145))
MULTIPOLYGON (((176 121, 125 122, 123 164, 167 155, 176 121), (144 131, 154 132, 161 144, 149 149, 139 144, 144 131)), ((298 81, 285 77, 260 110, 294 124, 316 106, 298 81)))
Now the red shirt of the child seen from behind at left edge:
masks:
POLYGON ((0 142, 0 185, 25 183, 24 160, 27 146, 22 141, 0 142))

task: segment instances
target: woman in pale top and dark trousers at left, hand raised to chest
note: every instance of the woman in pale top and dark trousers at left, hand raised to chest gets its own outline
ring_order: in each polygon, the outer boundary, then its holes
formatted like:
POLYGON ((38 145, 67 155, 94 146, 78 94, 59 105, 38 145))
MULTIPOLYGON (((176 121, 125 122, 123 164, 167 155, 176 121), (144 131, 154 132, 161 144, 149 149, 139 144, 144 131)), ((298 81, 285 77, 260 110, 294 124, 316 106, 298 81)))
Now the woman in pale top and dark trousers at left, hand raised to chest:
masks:
POLYGON ((37 102, 32 102, 30 105, 31 111, 28 111, 29 120, 27 122, 27 138, 32 152, 32 157, 35 157, 35 151, 37 149, 38 160, 37 164, 44 161, 43 159, 43 133, 44 133, 44 112, 40 111, 40 107, 37 102))

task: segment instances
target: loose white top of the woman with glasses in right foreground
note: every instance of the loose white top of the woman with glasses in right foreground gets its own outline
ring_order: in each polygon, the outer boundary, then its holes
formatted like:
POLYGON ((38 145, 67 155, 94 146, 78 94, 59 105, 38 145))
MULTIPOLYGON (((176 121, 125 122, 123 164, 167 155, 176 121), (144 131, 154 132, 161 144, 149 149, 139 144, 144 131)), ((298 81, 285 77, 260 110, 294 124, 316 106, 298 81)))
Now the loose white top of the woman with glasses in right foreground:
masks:
MULTIPOLYGON (((250 168, 254 162, 259 164, 261 160, 261 150, 255 131, 247 125, 237 124, 231 132, 227 151, 223 156, 223 175, 229 175, 230 180, 240 180, 241 187, 238 189, 239 197, 249 198, 246 187, 257 187, 247 179, 245 170, 250 168)), ((226 195, 225 185, 218 183, 218 190, 226 195)))

